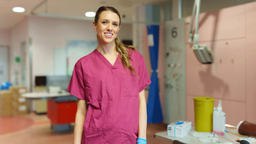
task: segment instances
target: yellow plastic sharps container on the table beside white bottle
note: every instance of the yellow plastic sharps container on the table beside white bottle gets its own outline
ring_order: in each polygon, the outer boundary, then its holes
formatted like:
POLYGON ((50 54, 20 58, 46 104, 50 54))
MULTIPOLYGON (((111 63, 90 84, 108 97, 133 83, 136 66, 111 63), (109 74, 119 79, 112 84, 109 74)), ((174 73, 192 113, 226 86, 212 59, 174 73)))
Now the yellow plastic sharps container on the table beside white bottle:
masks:
POLYGON ((195 126, 197 132, 212 132, 213 105, 214 98, 194 98, 195 126))

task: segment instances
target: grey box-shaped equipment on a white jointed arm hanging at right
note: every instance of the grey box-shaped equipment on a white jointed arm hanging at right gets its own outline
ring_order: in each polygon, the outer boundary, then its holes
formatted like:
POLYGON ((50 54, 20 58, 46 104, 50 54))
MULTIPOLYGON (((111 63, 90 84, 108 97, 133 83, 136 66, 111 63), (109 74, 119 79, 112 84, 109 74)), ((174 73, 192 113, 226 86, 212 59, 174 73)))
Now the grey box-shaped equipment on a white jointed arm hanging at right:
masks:
POLYGON ((199 41, 198 21, 199 21, 199 11, 200 11, 200 1, 201 0, 195 0, 192 19, 190 23, 190 29, 189 29, 189 43, 194 42, 192 49, 199 62, 203 64, 212 64, 214 62, 214 55, 212 50, 208 48, 206 45, 198 45, 198 41, 199 41), (195 11, 196 11, 196 29, 195 29, 195 35, 193 37, 193 23, 195 18, 195 11))

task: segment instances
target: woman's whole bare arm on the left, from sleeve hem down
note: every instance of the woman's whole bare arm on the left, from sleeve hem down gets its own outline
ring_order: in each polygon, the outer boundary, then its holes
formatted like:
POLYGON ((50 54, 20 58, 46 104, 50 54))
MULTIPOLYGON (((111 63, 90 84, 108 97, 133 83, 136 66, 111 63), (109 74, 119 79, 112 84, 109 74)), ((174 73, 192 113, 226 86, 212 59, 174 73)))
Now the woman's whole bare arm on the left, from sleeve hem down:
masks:
POLYGON ((74 140, 73 140, 74 144, 81 143, 86 112, 87 112, 86 101, 78 98, 76 120, 75 120, 75 127, 74 127, 74 140))

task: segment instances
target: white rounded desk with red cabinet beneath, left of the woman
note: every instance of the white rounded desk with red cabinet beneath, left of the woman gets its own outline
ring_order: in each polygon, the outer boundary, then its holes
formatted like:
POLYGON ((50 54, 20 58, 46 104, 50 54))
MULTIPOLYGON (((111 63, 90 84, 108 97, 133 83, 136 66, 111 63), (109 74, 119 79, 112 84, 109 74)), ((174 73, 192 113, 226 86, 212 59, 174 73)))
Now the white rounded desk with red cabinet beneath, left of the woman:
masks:
POLYGON ((47 100, 47 117, 51 119, 51 128, 55 132, 68 131, 70 123, 75 122, 77 98, 68 92, 31 92, 22 94, 21 97, 47 100))

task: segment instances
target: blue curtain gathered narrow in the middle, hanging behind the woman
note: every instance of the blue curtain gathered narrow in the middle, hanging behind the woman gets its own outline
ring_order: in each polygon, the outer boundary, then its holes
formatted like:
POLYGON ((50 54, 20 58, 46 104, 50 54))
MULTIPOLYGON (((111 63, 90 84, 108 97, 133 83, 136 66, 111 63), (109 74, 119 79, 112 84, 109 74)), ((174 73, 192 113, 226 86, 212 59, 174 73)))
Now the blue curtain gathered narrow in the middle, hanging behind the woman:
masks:
POLYGON ((151 61, 151 84, 149 86, 148 102, 147 102, 147 115, 148 123, 163 122, 162 109, 159 100, 158 78, 157 78, 157 61, 158 61, 158 39, 159 39, 159 26, 147 26, 148 30, 148 43, 149 55, 151 61))

